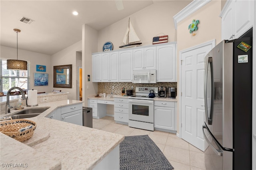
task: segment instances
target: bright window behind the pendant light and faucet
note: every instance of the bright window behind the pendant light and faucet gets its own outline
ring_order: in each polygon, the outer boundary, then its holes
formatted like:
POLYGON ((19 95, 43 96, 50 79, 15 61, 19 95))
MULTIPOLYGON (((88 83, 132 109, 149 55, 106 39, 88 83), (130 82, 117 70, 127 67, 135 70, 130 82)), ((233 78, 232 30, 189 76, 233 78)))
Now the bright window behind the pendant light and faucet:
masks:
POLYGON ((28 63, 28 70, 8 70, 7 59, 0 59, 0 92, 6 95, 11 87, 20 87, 27 92, 30 89, 29 69, 30 63, 28 63))

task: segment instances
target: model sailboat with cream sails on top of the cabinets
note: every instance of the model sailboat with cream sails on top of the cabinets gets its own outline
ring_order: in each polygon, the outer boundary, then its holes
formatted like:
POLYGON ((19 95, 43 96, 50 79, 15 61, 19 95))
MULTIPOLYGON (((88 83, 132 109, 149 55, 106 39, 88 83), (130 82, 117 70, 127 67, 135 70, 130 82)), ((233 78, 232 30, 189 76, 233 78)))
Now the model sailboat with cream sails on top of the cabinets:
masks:
POLYGON ((122 45, 122 46, 120 46, 120 48, 129 47, 129 46, 131 47, 131 46, 134 46, 134 45, 142 44, 142 42, 140 42, 140 39, 138 38, 138 36, 137 36, 133 26, 132 26, 132 23, 130 22, 130 18, 129 18, 128 28, 127 28, 127 30, 124 34, 123 42, 126 45, 122 45))

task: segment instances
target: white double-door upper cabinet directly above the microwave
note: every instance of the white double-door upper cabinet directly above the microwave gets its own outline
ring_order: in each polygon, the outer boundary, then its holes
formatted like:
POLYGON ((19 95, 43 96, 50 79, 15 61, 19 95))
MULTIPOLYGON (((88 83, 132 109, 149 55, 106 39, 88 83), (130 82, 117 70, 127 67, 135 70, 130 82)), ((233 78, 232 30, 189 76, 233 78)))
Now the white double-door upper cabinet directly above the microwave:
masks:
POLYGON ((156 69, 156 47, 133 49, 133 70, 156 69))

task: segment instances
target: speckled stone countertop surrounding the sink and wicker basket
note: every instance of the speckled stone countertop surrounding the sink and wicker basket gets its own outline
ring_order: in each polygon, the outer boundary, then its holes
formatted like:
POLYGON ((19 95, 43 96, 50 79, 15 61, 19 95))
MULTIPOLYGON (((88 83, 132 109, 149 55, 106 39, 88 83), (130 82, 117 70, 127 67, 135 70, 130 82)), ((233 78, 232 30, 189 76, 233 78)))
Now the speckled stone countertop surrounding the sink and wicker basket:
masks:
MULTIPOLYGON (((43 142, 29 147, 24 142, 18 142, 1 134, 0 163, 28 163, 31 169, 60 169, 59 164, 61 162, 61 169, 93 169, 94 166, 122 142, 124 136, 45 117, 58 107, 77 103, 82 103, 82 101, 62 100, 38 104, 37 107, 50 108, 40 115, 28 119, 37 123, 34 135, 44 131, 46 134, 49 132, 50 137, 43 142), (4 137, 2 138, 3 135, 4 137), (17 149, 22 147, 28 148, 28 152, 20 152, 20 149, 17 149), (17 150, 21 154, 18 154, 17 150), (20 159, 20 157, 24 157, 26 154, 28 156, 32 155, 32 158, 24 158, 24 161, 20 159)), ((25 109, 28 108, 25 107, 25 109)), ((13 115, 14 112, 16 111, 12 111, 8 115, 13 115)), ((1 117, 3 115, 7 116, 1 114, 1 117)), ((29 140, 33 140, 33 137, 29 140)))

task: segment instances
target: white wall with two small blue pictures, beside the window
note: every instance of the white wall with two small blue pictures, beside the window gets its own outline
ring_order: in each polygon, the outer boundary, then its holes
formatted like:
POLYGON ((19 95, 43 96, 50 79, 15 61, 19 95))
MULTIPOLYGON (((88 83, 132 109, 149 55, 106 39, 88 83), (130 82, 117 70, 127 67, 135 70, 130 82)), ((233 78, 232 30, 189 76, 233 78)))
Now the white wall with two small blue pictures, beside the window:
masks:
MULTIPOLYGON (((1 52, 0 57, 5 59, 17 59, 17 49, 0 46, 1 52)), ((30 63, 30 89, 37 90, 38 92, 52 92, 53 76, 51 70, 51 56, 36 53, 32 51, 26 51, 23 49, 18 49, 18 59, 25 60, 30 63), (46 72, 36 71, 36 65, 45 65, 46 72), (48 86, 34 86, 34 73, 48 73, 48 86)))

